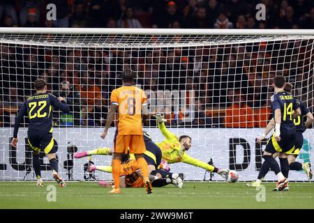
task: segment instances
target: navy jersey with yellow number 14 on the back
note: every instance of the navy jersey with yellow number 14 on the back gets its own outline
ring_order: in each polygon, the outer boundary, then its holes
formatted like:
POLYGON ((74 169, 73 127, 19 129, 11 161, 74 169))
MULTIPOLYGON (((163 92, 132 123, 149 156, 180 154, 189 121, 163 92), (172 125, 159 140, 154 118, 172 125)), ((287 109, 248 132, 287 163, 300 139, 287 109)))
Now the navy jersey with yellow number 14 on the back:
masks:
POLYGON ((280 91, 271 96, 273 116, 276 109, 281 109, 281 128, 295 130, 292 114, 298 108, 297 101, 290 93, 280 91))

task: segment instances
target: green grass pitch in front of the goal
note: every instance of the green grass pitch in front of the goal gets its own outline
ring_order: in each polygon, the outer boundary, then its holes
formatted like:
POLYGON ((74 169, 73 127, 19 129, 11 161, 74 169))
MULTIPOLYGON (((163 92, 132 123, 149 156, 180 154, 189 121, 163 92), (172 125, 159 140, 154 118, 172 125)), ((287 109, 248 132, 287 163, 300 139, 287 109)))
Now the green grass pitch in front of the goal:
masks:
POLYGON ((185 183, 179 189, 173 185, 154 188, 145 194, 144 188, 122 189, 121 194, 108 194, 110 188, 97 183, 70 182, 61 188, 54 182, 0 182, 0 208, 105 208, 105 209, 175 209, 175 208, 314 208, 314 184, 290 183, 290 191, 273 192, 275 183, 264 183, 262 190, 246 187, 246 183, 185 183), (49 185, 56 186, 57 201, 51 198, 49 185))

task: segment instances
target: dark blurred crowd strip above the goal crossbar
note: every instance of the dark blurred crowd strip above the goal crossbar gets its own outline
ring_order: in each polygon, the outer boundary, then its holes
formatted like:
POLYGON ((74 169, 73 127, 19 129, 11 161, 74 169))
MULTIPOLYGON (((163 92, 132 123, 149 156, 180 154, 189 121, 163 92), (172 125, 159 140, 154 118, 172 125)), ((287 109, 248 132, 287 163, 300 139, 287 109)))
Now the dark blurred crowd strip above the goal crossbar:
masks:
MULTIPOLYGON (((49 8, 50 9, 50 8, 49 8)), ((1 26, 314 29, 313 0, 1 0, 1 26), (48 3, 57 20, 46 20, 48 3), (258 3, 266 20, 257 21, 258 3)))

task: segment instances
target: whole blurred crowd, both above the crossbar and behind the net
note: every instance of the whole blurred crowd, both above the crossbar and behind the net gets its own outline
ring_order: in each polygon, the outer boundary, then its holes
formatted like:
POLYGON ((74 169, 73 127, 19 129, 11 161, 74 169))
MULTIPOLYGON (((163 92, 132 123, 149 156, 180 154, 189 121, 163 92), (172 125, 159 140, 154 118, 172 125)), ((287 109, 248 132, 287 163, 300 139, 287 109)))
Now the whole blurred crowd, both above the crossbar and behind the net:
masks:
MULTIPOLYGON (((306 0, 49 2, 61 9, 57 21, 45 20, 47 1, 0 1, 2 26, 314 29, 314 2, 306 0), (257 3, 265 4, 266 21, 255 20, 257 3)), ((179 97, 187 99, 186 107, 151 111, 163 112, 170 126, 262 128, 271 118, 271 79, 276 75, 285 75, 294 94, 314 106, 312 49, 313 40, 132 50, 2 43, 0 127, 14 124, 38 77, 70 105, 69 114, 54 114, 55 126, 103 126, 110 92, 121 86, 121 72, 131 69, 144 90, 186 91, 179 97)))

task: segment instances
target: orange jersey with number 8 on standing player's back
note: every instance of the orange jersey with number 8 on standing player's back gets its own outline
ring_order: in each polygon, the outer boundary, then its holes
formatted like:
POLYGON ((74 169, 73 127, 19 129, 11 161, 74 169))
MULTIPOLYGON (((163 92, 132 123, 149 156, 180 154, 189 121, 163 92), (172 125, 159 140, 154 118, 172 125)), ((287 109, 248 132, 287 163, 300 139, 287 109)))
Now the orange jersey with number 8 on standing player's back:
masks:
POLYGON ((142 89, 136 86, 121 86, 111 93, 111 103, 118 105, 118 134, 142 135, 142 105, 147 97, 142 89))

